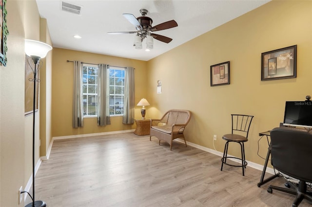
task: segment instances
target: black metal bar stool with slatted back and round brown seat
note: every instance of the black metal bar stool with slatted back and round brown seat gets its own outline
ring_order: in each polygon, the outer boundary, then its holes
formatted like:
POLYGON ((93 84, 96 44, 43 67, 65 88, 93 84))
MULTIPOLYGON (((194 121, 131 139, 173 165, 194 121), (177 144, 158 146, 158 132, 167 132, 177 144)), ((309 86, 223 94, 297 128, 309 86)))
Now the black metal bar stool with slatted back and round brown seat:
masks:
POLYGON ((223 139, 226 140, 224 146, 223 157, 221 158, 221 171, 223 169, 223 164, 242 167, 243 176, 245 176, 244 168, 246 168, 247 162, 245 159, 245 147, 244 142, 248 141, 248 133, 250 125, 253 121, 254 116, 251 115, 240 115, 240 114, 231 114, 232 116, 232 134, 223 135, 223 139), (241 158, 228 156, 228 148, 230 142, 236 142, 240 144, 241 158), (242 161, 241 165, 232 165, 227 163, 227 158, 240 159, 242 161))

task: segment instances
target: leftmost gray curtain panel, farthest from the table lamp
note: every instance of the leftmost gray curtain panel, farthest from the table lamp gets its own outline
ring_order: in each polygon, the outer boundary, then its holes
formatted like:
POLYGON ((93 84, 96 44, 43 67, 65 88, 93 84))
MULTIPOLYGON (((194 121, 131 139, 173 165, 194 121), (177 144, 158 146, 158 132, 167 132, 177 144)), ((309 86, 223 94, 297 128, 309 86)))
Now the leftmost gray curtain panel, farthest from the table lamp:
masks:
POLYGON ((83 127, 83 104, 82 104, 82 64, 74 61, 74 88, 73 88, 73 127, 83 127))

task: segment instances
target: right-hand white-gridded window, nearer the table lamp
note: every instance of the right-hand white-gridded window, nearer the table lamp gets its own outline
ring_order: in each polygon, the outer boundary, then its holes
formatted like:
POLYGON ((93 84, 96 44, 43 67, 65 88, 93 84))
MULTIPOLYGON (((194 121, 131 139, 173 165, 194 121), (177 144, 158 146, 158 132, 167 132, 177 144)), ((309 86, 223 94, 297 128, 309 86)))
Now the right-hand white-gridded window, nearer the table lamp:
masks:
POLYGON ((123 115, 125 69, 109 67, 109 114, 123 115))

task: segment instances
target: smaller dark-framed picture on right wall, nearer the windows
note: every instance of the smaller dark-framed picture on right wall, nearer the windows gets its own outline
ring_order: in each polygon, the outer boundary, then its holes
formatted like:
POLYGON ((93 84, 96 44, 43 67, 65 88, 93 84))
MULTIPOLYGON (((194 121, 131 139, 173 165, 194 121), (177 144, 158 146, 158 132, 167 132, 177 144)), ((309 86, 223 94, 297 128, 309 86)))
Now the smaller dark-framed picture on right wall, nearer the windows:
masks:
POLYGON ((210 66, 210 86, 230 84, 230 61, 210 66))

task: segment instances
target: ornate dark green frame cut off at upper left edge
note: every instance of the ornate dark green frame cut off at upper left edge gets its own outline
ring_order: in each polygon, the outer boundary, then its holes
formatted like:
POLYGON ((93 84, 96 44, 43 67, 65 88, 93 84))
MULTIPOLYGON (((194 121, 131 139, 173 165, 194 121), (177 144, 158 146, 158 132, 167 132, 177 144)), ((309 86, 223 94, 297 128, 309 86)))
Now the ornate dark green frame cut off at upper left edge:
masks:
POLYGON ((6 0, 0 0, 0 63, 6 66, 7 58, 6 52, 8 50, 6 46, 6 38, 9 35, 9 31, 6 25, 6 0))

